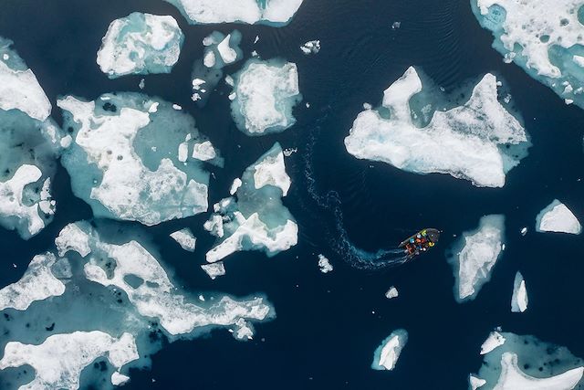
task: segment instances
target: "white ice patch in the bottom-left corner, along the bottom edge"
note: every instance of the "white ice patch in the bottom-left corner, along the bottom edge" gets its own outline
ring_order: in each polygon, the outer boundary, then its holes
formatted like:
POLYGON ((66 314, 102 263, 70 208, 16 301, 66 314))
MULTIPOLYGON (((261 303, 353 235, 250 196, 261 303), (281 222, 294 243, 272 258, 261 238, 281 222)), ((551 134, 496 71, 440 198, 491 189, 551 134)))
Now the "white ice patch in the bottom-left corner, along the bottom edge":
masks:
MULTIPOLYGON (((119 372, 123 365, 139 358, 134 336, 123 333, 115 338, 99 331, 72 332, 54 334, 38 345, 9 342, 0 370, 32 366, 35 378, 21 389, 77 389, 83 369, 99 357, 107 358, 119 372)), ((112 380, 117 378, 112 376, 112 380)))

